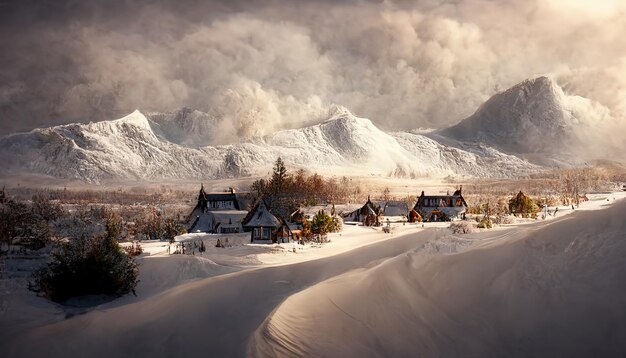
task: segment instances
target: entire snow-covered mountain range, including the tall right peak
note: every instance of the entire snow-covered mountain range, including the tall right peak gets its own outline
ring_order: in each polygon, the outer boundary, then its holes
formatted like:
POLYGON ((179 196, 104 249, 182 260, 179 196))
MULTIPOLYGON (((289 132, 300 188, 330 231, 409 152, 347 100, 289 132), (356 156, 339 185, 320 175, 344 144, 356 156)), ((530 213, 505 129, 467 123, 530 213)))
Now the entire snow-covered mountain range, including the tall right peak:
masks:
POLYGON ((610 121, 594 106, 538 77, 433 133, 385 132, 333 105, 321 123, 227 142, 227 123, 210 113, 135 111, 2 137, 0 158, 10 164, 0 175, 87 182, 229 178, 263 175, 281 157, 292 168, 335 175, 515 177, 555 162, 582 163, 576 149, 587 148, 610 121))

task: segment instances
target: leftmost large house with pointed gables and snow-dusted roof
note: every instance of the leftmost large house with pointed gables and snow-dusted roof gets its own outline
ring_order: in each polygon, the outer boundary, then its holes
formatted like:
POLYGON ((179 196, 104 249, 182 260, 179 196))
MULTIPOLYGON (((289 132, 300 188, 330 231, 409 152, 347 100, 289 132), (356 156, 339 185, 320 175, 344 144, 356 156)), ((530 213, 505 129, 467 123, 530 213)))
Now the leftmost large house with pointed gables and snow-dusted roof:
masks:
POLYGON ((233 189, 226 193, 207 193, 200 187, 198 203, 189 215, 188 232, 243 232, 242 220, 248 214, 233 189))

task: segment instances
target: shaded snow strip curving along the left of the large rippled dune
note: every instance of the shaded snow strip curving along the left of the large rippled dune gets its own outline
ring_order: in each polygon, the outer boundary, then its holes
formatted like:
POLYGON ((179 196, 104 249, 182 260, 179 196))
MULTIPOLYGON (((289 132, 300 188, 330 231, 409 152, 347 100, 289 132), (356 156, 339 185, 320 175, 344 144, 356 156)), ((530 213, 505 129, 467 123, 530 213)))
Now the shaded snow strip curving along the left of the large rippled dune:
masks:
POLYGON ((244 356, 248 339, 286 297, 444 232, 421 231, 326 259, 197 280, 134 303, 14 330, 0 341, 0 351, 4 357, 244 356))

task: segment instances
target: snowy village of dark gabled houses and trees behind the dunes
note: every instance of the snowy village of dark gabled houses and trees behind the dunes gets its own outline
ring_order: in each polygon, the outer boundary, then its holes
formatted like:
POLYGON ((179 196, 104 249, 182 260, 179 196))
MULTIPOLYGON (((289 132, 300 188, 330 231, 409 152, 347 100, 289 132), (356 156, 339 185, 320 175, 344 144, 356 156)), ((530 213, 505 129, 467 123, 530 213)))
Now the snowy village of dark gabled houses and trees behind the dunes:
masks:
MULTIPOLYGON (((225 192, 207 192, 201 185, 197 203, 186 219, 187 233, 171 240, 166 246, 167 253, 202 256, 207 248, 215 247, 218 250, 213 252, 219 256, 218 261, 227 252, 239 257, 261 252, 265 253, 263 261, 269 262, 276 261, 271 258, 271 253, 293 255, 307 252, 307 255, 317 257, 324 254, 312 254, 311 251, 324 251, 322 248, 326 245, 340 246, 339 251, 343 252, 367 243, 365 237, 372 233, 379 234, 374 241, 425 228, 448 228, 454 234, 468 234, 498 226, 553 219, 581 209, 581 205, 582 209, 596 207, 585 204, 590 198, 596 202, 615 200, 606 193, 581 194, 580 187, 584 184, 570 183, 570 195, 533 199, 520 190, 505 199, 478 197, 478 203, 468 205, 463 185, 459 184, 445 193, 423 190, 404 200, 389 197, 389 189, 385 188, 382 194, 374 193, 378 194, 377 199, 368 194, 360 203, 301 205, 305 200, 290 200, 282 194, 285 185, 281 183, 288 178, 287 169, 278 158, 272 177, 251 186, 257 189, 256 195, 238 193, 233 188, 225 192), (389 234, 389 237, 380 234, 389 234), (327 245, 331 241, 341 243, 327 245), (233 249, 242 246, 249 250, 233 249), (230 250, 219 254, 219 249, 224 248, 230 250)), ((620 189, 623 188, 620 186, 616 190, 620 189)), ((154 254, 163 252, 164 247, 146 249, 154 254)))

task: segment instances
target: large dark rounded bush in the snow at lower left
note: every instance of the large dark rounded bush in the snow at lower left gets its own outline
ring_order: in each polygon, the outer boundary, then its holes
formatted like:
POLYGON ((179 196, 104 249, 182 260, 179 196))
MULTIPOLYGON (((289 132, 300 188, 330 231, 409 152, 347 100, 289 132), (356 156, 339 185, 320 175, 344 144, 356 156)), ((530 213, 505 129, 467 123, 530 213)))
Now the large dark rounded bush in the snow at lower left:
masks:
POLYGON ((31 289, 55 302, 84 295, 135 293, 139 270, 135 261, 109 237, 74 239, 51 254, 35 272, 31 289))

